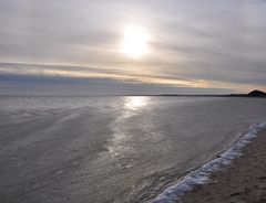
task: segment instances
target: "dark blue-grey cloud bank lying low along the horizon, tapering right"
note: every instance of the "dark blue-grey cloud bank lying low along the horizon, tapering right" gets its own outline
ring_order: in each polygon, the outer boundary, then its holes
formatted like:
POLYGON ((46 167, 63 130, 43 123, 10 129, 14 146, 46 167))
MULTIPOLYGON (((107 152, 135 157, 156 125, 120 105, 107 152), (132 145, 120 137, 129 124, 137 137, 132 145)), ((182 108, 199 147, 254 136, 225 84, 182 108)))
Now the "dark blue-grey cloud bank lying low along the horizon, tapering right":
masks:
POLYGON ((171 87, 110 78, 71 78, 0 74, 0 95, 157 95, 227 94, 226 88, 171 87))

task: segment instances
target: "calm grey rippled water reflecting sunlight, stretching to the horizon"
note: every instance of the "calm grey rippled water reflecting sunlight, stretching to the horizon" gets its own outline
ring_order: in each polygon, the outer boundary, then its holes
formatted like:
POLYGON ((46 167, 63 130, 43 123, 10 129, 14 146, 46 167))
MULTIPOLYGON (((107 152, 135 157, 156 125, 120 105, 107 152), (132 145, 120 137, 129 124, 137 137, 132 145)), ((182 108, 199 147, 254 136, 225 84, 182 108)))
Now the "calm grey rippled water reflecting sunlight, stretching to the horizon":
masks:
POLYGON ((0 202, 149 202, 265 109, 259 98, 0 97, 0 202))

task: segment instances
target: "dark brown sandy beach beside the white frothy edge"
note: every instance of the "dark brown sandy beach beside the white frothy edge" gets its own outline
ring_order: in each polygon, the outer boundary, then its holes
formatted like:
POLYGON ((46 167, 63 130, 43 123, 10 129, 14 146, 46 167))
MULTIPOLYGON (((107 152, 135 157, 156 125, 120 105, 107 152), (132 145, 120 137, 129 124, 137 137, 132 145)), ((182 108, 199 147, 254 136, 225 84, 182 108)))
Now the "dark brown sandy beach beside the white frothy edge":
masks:
POLYGON ((266 130, 243 149, 243 156, 212 175, 211 182, 185 194, 182 203, 265 203, 266 130))

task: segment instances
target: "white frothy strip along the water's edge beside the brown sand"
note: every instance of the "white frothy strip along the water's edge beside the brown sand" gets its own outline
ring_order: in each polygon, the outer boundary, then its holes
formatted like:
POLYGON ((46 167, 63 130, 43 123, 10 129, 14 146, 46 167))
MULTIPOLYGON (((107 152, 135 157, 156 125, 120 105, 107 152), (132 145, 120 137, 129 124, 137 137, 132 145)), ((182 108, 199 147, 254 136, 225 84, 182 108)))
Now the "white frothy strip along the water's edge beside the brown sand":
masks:
POLYGON ((208 182, 212 173, 228 165, 233 159, 242 154, 242 149, 246 147, 259 130, 266 128, 266 122, 252 125, 249 130, 243 135, 229 149, 225 150, 218 158, 207 162, 200 169, 190 172, 176 184, 168 186, 163 191, 152 203, 172 203, 176 202, 186 192, 191 191, 195 185, 205 184, 208 182))

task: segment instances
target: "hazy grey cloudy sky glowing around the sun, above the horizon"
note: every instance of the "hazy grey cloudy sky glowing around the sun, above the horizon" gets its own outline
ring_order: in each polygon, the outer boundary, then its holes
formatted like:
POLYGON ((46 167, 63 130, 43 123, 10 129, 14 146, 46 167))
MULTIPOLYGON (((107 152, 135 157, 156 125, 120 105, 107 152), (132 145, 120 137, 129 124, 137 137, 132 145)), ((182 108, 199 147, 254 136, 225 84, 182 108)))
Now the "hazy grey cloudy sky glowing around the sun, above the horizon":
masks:
POLYGON ((265 0, 0 0, 0 94, 266 90, 265 22, 265 0))

